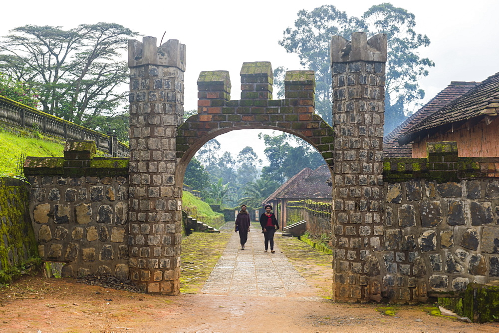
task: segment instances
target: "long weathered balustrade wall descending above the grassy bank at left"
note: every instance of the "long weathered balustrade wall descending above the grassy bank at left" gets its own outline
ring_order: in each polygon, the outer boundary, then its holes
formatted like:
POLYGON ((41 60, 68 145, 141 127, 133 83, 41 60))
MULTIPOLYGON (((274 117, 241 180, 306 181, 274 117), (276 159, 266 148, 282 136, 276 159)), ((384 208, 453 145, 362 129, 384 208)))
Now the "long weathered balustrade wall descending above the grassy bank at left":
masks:
POLYGON ((113 136, 85 128, 3 96, 0 96, 0 121, 21 127, 36 127, 42 133, 66 140, 92 140, 97 149, 115 157, 130 156, 130 149, 113 136))

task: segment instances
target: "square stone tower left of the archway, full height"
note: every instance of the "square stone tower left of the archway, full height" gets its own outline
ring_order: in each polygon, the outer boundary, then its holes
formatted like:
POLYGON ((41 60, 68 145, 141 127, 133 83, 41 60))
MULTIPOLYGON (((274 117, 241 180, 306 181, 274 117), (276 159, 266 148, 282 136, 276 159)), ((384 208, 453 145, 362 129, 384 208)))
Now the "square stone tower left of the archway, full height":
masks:
POLYGON ((129 41, 130 278, 147 293, 179 294, 182 184, 176 135, 184 113, 185 45, 129 41))

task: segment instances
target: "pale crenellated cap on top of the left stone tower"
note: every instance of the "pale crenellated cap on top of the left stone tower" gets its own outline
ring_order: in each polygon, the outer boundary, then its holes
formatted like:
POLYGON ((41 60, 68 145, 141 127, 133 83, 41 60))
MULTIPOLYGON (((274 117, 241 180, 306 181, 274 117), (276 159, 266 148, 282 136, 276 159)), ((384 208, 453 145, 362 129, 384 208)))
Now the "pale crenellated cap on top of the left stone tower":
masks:
POLYGON ((186 70, 186 45, 177 39, 169 39, 156 46, 156 37, 146 36, 142 42, 128 40, 128 67, 161 65, 186 70))

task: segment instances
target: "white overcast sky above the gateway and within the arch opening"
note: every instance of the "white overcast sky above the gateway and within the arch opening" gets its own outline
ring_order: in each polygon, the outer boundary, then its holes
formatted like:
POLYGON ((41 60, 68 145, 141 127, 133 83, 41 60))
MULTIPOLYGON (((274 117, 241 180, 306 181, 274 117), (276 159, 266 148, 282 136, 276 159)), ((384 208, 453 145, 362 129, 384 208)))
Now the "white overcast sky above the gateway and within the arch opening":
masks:
MULTIPOLYGON (((272 68, 301 69, 298 57, 277 41, 292 26, 300 9, 333 4, 349 15, 360 16, 383 0, 354 1, 3 1, 0 35, 9 29, 33 25, 64 28, 81 23, 116 22, 141 35, 179 39, 187 47, 185 109, 197 108, 196 80, 203 70, 229 70, 232 98, 240 98, 239 72, 245 61, 270 61, 272 68)), ((420 51, 435 61, 420 84, 429 100, 451 81, 482 81, 499 71, 498 0, 392 0, 416 15, 416 32, 427 34, 431 45, 420 51)), ((141 40, 139 36, 137 39, 141 40)), ((217 137, 222 150, 237 154, 251 145, 259 158, 261 130, 232 131, 217 137)))

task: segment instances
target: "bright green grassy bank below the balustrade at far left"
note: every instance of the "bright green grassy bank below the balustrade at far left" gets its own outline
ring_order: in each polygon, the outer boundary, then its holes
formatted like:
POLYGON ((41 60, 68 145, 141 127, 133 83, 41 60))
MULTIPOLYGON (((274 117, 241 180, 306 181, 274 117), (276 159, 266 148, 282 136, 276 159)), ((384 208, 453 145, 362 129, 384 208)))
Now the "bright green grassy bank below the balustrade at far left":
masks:
POLYGON ((63 156, 64 145, 38 138, 0 132, 0 173, 15 172, 17 160, 24 156, 63 156))

